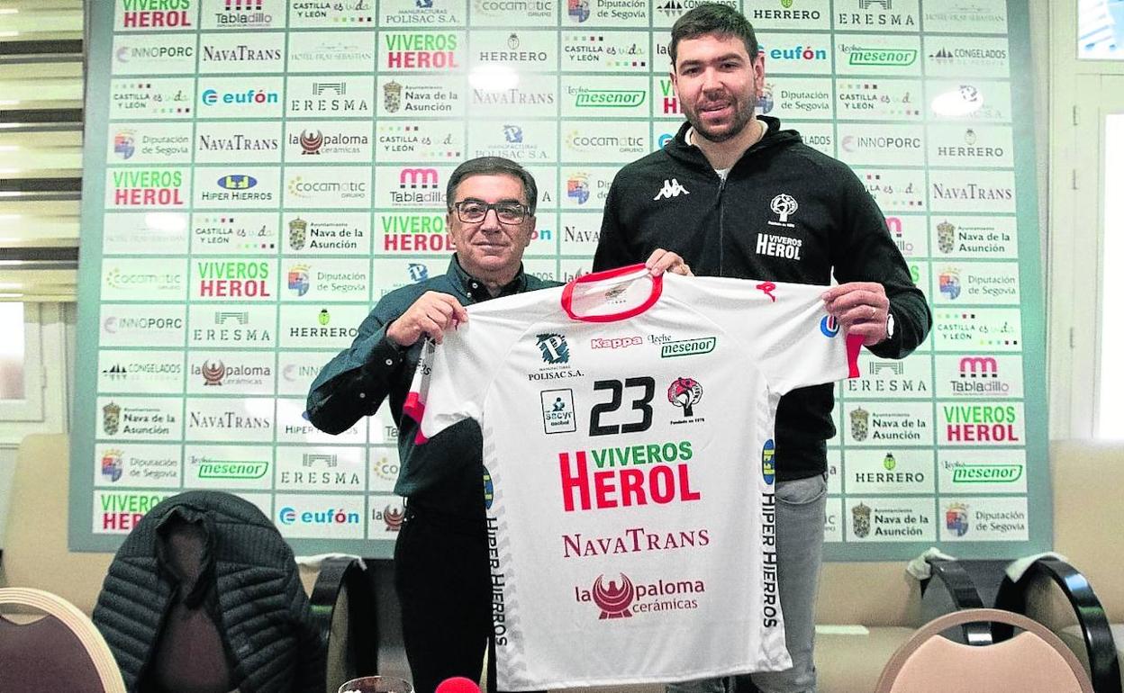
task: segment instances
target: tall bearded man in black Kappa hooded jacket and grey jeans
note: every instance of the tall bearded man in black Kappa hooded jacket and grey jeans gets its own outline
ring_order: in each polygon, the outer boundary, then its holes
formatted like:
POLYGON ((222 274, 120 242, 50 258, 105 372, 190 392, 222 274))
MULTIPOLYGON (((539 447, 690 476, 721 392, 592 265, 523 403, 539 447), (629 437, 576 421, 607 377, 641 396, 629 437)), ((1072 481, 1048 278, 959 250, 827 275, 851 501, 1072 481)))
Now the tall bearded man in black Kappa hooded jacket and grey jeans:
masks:
MULTIPOLYGON (((925 297, 854 173, 776 118, 755 117, 764 55, 737 10, 706 3, 671 29, 671 81, 687 122, 662 151, 625 166, 605 203, 593 270, 649 258, 699 276, 831 284, 827 311, 877 356, 904 358, 928 334, 925 297), (680 257, 682 258, 680 261, 680 257)), ((826 507, 832 385, 795 390, 777 410, 777 556, 794 666, 751 675, 764 693, 815 691, 813 636, 826 507)), ((731 426, 740 422, 731 421, 731 426)), ((761 450, 745 450, 751 464, 761 450)), ((760 464, 760 463, 759 463, 760 464)), ((724 680, 669 686, 728 691, 724 680)))

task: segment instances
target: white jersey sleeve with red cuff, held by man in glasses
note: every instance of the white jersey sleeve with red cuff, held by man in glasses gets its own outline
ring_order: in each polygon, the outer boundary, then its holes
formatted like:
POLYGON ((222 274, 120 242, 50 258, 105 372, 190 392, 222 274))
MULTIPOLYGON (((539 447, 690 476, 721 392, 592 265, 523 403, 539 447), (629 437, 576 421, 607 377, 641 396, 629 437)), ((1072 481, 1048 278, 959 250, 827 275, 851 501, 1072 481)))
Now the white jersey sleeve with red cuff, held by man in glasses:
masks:
MULTIPOLYGON (((471 320, 471 319, 470 319, 471 320)), ((423 444, 464 419, 480 420, 495 373, 487 335, 466 325, 445 334, 442 344, 427 339, 402 411, 418 422, 415 443, 423 444)))

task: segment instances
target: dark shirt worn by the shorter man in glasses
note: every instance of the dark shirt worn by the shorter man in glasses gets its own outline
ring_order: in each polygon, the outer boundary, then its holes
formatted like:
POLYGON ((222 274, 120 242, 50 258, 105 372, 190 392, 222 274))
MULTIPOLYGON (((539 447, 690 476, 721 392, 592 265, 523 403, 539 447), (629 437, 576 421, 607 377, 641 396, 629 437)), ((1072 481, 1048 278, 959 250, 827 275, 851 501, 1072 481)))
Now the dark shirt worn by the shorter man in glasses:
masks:
MULTIPOLYGON (((525 274, 520 267, 499 295, 558 285, 525 274)), ((447 293, 462 306, 492 298, 483 282, 461 267, 455 255, 444 275, 391 291, 360 325, 352 345, 329 361, 312 382, 307 416, 312 426, 335 435, 373 414, 389 400, 398 425, 400 462, 395 493, 418 509, 477 518, 483 514, 480 427, 475 421, 462 421, 418 446, 414 443, 417 423, 402 416, 424 340, 399 348, 387 339, 387 326, 427 291, 447 293)))

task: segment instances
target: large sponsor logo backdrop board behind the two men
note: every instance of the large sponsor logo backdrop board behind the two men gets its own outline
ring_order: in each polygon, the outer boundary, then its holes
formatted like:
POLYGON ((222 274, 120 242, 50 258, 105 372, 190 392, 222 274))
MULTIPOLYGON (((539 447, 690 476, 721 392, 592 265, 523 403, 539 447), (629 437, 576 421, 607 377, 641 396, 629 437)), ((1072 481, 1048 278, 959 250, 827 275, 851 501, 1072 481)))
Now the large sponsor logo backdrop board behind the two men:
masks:
MULTIPOLYGON (((1048 548, 1025 1, 735 4, 765 54, 760 111, 854 167, 935 318, 837 387, 827 557, 1048 548)), ((309 383, 382 295, 444 272, 466 157, 535 174, 528 268, 588 271, 614 174, 681 120, 668 28, 694 6, 93 3, 71 546, 226 489, 298 553, 389 557, 395 422, 321 434, 309 383)))

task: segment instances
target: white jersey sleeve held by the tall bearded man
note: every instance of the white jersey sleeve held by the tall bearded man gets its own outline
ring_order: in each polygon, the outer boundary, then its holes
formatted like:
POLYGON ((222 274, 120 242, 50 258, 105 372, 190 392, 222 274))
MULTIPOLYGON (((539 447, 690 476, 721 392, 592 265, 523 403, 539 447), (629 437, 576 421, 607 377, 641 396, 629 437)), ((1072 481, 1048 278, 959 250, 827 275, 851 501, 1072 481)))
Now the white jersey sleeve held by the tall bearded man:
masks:
POLYGON ((862 337, 847 337, 827 314, 821 294, 827 286, 695 277, 692 304, 737 337, 771 390, 859 377, 862 337))

